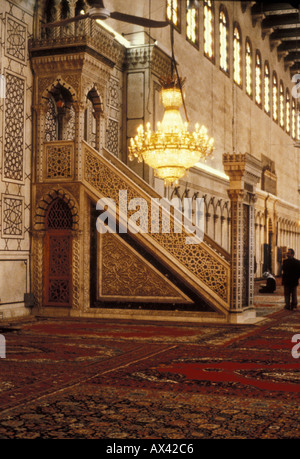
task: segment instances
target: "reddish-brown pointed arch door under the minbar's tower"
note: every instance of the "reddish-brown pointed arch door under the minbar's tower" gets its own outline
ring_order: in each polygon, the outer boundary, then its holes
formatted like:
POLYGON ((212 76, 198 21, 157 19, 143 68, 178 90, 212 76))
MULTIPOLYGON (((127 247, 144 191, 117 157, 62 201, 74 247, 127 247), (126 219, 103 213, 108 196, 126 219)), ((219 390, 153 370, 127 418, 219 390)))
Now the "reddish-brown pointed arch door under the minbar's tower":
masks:
POLYGON ((72 225, 68 204, 55 199, 45 220, 44 306, 72 306, 72 225))

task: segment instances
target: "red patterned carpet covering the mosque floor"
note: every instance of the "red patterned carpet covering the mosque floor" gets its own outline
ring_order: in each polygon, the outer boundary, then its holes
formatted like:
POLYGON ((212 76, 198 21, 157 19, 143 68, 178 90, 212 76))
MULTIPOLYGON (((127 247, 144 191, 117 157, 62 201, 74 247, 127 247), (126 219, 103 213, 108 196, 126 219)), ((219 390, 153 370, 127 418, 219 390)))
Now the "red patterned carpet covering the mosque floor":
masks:
POLYGON ((299 438, 300 311, 283 310, 280 293, 256 297, 257 325, 39 319, 3 329, 0 438, 299 438))

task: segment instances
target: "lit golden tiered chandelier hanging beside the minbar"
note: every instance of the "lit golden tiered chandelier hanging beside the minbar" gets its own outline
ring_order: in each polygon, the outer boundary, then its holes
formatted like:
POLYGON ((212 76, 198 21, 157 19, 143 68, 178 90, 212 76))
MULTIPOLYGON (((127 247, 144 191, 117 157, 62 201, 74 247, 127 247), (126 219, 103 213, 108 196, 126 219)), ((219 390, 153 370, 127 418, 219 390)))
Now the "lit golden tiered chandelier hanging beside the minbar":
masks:
MULTIPOLYGON (((180 107, 184 99, 173 52, 173 26, 171 24, 172 64, 171 78, 161 78, 161 100, 164 115, 157 130, 151 131, 150 123, 146 130, 143 125, 137 135, 130 139, 129 159, 137 158, 154 169, 155 176, 164 180, 165 185, 176 185, 190 167, 213 151, 214 140, 209 138, 204 126, 195 125, 194 132, 188 131, 188 122, 182 120, 180 107), (175 69, 175 72, 174 72, 175 69)), ((186 111, 185 111, 186 113, 186 111)), ((186 115, 187 118, 187 115, 186 115)))

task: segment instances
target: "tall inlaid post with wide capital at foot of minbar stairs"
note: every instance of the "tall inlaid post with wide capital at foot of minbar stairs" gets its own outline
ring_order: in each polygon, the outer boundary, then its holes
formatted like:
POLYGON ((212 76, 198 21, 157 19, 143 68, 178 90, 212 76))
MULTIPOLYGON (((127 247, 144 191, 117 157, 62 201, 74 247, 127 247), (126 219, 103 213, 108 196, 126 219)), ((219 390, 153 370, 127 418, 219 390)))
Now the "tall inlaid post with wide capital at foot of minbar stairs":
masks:
POLYGON ((232 322, 254 318, 254 203, 256 185, 261 176, 261 161, 237 153, 223 155, 229 176, 231 201, 231 302, 232 322))

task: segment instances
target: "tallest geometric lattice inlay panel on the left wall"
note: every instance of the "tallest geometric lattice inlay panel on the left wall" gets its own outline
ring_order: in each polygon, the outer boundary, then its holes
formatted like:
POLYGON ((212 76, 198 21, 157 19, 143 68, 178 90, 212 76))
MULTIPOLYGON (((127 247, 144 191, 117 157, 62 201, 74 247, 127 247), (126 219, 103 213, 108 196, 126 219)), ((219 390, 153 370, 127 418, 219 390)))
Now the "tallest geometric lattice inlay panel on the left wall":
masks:
POLYGON ((3 174, 5 179, 23 180, 25 80, 6 73, 3 174))

